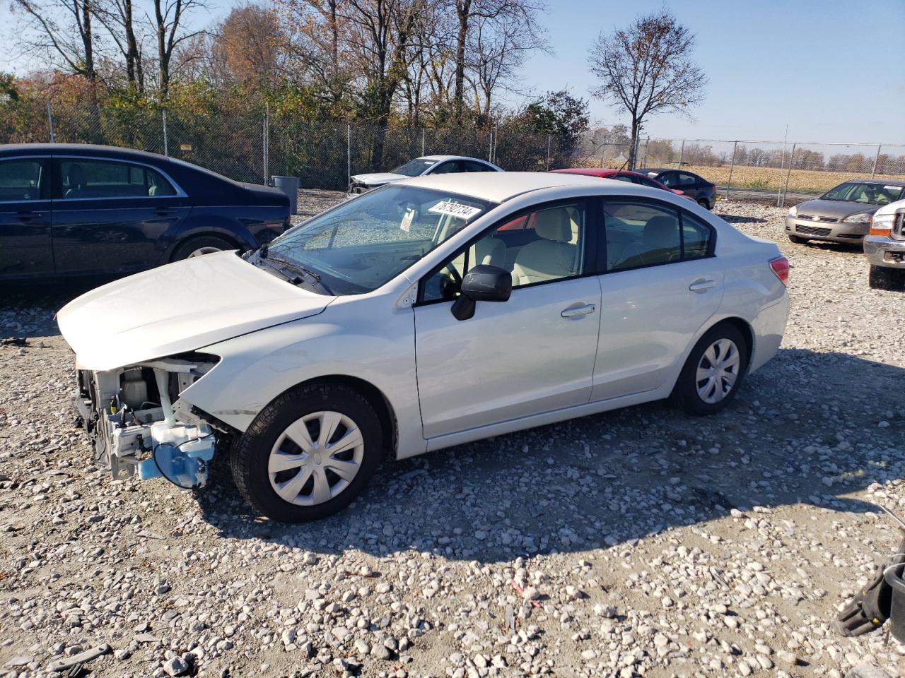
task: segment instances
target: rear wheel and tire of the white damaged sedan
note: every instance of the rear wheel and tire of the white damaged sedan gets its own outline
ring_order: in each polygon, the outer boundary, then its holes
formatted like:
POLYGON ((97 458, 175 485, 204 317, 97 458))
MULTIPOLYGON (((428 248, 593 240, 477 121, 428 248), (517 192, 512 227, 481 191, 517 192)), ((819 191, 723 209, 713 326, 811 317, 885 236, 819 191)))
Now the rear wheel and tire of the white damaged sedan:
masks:
POLYGON ((689 414, 716 414, 735 398, 747 369, 748 344, 741 332, 717 325, 691 349, 672 400, 689 414))

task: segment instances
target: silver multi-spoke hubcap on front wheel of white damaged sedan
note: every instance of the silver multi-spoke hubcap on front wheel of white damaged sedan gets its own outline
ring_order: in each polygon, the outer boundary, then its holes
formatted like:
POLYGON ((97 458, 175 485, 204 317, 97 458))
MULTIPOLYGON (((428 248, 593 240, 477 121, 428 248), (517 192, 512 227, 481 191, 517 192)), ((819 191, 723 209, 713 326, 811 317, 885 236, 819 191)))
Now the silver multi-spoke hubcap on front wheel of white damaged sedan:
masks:
POLYGON ((267 474, 284 502, 323 504, 348 487, 364 453, 365 440, 352 419, 340 412, 312 412, 277 438, 267 474))

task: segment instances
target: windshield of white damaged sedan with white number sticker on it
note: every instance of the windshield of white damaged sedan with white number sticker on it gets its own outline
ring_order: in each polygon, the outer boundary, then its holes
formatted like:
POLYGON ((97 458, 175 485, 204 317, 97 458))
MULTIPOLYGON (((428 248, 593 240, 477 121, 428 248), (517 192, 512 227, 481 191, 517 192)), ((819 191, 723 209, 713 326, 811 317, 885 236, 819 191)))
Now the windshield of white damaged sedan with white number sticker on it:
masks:
POLYGON ((493 206, 445 191, 387 184, 286 231, 270 243, 267 259, 315 273, 333 294, 363 294, 493 206))

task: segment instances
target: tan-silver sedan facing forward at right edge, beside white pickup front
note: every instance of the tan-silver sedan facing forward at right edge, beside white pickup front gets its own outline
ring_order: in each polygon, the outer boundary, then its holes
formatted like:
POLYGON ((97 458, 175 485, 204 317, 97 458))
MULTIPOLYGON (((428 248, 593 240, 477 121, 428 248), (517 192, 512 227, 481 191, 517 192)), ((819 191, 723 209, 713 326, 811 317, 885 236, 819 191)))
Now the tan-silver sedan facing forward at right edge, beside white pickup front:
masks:
POLYGON ((861 242, 873 212, 903 197, 905 182, 855 179, 839 184, 816 200, 795 205, 786 215, 789 240, 861 242))

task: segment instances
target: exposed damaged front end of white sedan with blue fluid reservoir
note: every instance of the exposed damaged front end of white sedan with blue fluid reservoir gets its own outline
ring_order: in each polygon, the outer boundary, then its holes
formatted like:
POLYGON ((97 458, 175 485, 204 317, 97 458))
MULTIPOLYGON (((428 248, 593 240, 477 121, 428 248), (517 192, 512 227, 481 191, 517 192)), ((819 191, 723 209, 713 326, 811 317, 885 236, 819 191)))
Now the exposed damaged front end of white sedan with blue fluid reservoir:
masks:
POLYGON ((231 432, 180 395, 218 361, 208 353, 183 353, 107 371, 76 365, 73 404, 94 443, 94 463, 109 468, 115 480, 138 473, 184 489, 204 487, 217 444, 231 432))

